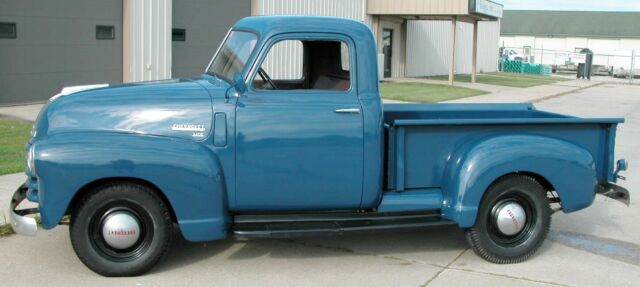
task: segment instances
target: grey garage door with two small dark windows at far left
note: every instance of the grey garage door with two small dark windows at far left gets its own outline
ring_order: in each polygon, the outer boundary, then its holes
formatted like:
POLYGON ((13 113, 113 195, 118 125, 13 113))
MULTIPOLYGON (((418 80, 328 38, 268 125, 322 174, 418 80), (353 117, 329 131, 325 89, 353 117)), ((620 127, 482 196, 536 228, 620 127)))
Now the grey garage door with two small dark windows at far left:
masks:
POLYGON ((46 101, 65 86, 122 81, 122 2, 0 0, 0 105, 46 101), (96 25, 115 28, 96 39, 96 25))

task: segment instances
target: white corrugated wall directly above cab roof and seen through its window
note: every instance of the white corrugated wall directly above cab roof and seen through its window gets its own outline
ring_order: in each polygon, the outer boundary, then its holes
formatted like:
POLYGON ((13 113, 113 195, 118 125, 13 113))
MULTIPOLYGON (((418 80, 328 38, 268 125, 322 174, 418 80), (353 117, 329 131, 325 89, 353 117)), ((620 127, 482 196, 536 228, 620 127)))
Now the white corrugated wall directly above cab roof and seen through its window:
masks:
MULTIPOLYGON (((366 0, 258 0, 252 7, 255 15, 309 15, 334 16, 354 19, 369 24, 366 0)), ((276 47, 270 57, 287 59, 285 65, 273 65, 267 60, 265 70, 274 79, 299 78, 302 67, 302 46, 291 42, 276 47)))

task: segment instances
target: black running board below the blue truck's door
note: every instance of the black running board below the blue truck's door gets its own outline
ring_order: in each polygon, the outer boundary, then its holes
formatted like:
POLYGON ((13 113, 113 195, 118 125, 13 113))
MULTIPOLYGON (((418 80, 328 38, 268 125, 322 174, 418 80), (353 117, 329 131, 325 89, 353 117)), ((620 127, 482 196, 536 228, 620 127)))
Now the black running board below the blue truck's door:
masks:
POLYGON ((450 224, 455 222, 442 219, 439 211, 236 215, 233 233, 242 237, 289 238, 450 224))

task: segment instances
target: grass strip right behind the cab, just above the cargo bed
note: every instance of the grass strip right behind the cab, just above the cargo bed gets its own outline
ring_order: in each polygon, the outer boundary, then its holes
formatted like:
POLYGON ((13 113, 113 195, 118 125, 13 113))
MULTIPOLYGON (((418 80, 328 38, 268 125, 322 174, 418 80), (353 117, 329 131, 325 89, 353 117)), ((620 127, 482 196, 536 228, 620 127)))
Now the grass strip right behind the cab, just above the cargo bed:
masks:
POLYGON ((441 102, 487 94, 485 91, 449 85, 391 82, 381 83, 382 97, 405 102, 441 102))

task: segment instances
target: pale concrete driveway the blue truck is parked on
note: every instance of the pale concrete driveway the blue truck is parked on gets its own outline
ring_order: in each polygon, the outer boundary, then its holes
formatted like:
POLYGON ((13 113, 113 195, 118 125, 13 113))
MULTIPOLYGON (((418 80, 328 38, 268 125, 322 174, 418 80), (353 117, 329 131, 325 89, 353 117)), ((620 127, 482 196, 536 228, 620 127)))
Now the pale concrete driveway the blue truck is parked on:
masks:
MULTIPOLYGON (((76 258, 68 228, 0 239, 3 286, 640 286, 640 87, 601 85, 549 99, 538 108, 627 118, 616 157, 631 163, 626 207, 598 197, 586 210, 554 215, 536 256, 495 265, 469 250, 452 227, 295 240, 188 243, 149 274, 103 278, 76 258)), ((5 204, 5 203, 1 203, 5 204)))

